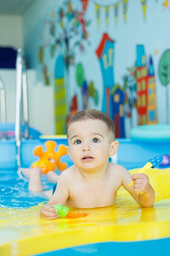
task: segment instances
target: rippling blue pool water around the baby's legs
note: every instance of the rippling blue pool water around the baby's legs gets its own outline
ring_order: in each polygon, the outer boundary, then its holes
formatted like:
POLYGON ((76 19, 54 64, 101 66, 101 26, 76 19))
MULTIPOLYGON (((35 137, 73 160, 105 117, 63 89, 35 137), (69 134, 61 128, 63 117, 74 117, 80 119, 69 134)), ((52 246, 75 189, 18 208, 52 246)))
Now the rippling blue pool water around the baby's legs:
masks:
MULTIPOLYGON (((44 189, 52 189, 54 184, 48 183, 46 175, 42 175, 44 189)), ((0 207, 23 209, 47 201, 44 193, 31 193, 28 180, 17 170, 0 170, 0 207)))

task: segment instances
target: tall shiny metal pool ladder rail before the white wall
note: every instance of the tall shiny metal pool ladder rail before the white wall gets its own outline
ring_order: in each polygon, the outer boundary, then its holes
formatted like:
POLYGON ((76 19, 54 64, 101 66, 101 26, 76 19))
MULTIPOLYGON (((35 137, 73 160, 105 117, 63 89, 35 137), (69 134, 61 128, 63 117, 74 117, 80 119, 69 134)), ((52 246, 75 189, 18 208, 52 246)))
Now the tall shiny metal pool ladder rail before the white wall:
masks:
POLYGON ((15 102, 15 144, 17 166, 21 166, 21 127, 24 121, 24 138, 29 139, 28 94, 26 79, 26 63, 24 52, 21 48, 17 51, 16 58, 16 102, 15 102))

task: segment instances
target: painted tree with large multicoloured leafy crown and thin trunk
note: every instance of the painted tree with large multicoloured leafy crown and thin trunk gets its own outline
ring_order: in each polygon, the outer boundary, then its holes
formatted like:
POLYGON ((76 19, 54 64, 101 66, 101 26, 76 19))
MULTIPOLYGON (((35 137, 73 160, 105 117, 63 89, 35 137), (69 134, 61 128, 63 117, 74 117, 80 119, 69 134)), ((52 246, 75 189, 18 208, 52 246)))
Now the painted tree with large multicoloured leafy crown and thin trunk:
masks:
POLYGON ((66 79, 67 116, 70 115, 71 88, 69 67, 75 62, 76 49, 84 51, 84 41, 88 42, 87 27, 90 21, 86 19, 86 9, 78 1, 64 0, 61 7, 53 13, 51 20, 51 36, 53 38, 50 47, 58 50, 64 58, 66 79))

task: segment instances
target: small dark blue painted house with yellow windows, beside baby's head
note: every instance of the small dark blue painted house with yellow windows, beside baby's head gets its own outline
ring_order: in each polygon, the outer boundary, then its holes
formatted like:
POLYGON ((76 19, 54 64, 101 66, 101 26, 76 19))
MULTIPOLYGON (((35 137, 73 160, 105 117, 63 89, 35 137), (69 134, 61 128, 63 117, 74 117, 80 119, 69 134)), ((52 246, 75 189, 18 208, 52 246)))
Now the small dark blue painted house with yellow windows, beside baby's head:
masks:
POLYGON ((115 122, 115 137, 124 138, 124 89, 115 85, 113 90, 113 121, 115 122))

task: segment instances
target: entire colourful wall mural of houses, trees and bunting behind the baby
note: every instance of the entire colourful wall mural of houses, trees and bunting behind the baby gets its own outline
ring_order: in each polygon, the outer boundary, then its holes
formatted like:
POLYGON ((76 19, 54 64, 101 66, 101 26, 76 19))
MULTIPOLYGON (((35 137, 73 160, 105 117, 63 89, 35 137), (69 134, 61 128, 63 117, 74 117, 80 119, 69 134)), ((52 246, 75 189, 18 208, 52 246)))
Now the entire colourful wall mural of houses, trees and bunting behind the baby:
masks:
MULTIPOLYGON (((169 1, 42 2, 43 15, 35 24, 38 62, 26 34, 25 46, 38 79, 55 88, 57 134, 86 108, 110 115, 116 137, 128 137, 135 125, 170 122, 169 1)), ((24 17, 27 31, 30 14, 24 17)))

